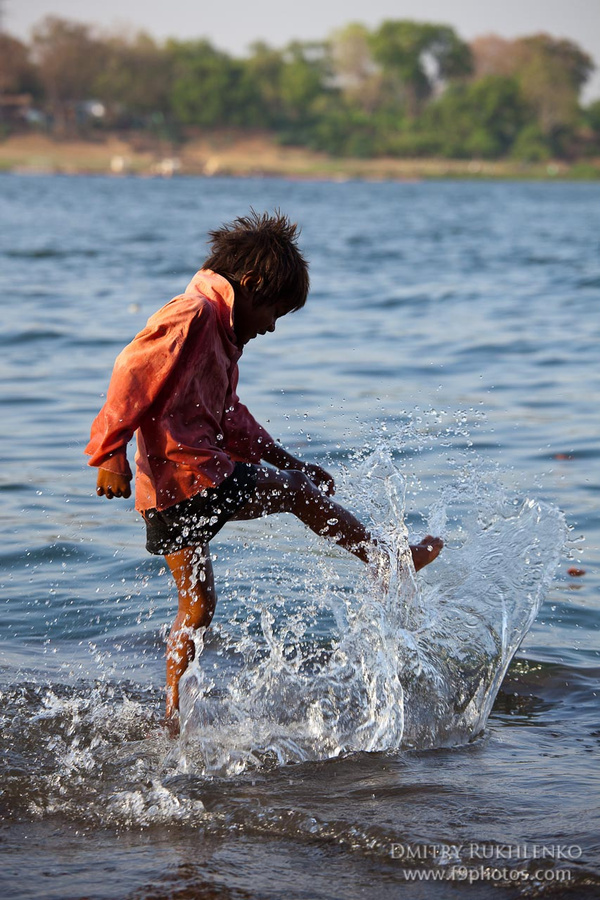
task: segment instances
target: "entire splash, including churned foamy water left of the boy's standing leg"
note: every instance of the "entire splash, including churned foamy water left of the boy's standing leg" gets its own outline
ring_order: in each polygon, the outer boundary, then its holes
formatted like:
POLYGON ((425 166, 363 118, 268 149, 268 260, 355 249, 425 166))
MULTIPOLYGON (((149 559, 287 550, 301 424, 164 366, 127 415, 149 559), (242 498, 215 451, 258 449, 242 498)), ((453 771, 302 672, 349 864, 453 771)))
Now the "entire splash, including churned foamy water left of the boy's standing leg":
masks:
MULTIPOLYGON (((409 501, 420 506, 426 493, 416 473, 421 464, 432 468, 435 430, 427 431, 365 450, 340 479, 349 505, 392 551, 385 584, 331 545, 311 546, 300 530, 309 552, 299 554, 286 530, 294 550, 282 561, 270 546, 278 568, 266 577, 265 553, 245 549, 247 577, 237 579, 244 584, 231 598, 232 616, 223 603, 182 679, 181 740, 156 727, 162 690, 115 684, 112 666, 95 685, 11 688, 2 696, 0 749, 11 765, 0 807, 118 827, 218 829, 229 819, 210 809, 202 776, 476 737, 566 529, 555 508, 509 496, 475 452, 457 455, 454 466, 444 463, 426 523, 446 547, 415 576, 405 522, 409 501), (404 453, 410 438, 422 459, 404 453)), ((278 520, 263 526, 264 534, 259 523, 248 525, 258 544, 281 537, 278 520)))

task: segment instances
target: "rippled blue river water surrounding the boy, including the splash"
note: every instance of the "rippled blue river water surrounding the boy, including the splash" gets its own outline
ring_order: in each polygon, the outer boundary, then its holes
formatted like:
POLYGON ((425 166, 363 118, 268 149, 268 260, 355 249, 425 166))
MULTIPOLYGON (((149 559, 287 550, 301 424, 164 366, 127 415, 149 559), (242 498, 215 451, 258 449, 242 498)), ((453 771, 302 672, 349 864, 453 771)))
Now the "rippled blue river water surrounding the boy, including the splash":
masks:
POLYGON ((600 186, 0 196, 3 896, 599 896, 600 186), (302 224, 312 292, 242 399, 400 559, 446 547, 385 591, 288 517, 227 526, 173 741, 175 592, 82 451, 116 354, 250 206, 302 224))

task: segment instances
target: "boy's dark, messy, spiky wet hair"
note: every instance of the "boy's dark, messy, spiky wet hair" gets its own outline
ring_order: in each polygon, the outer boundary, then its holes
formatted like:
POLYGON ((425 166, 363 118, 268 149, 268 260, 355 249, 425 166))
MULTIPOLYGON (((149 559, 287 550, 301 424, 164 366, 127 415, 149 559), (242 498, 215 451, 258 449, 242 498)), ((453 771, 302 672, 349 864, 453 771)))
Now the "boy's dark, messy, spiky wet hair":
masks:
POLYGON ((260 287, 259 303, 289 303, 300 309, 308 295, 308 264, 297 245, 298 227, 279 210, 262 215, 250 210, 233 222, 209 231, 212 253, 203 268, 212 269, 234 283, 252 273, 260 287))

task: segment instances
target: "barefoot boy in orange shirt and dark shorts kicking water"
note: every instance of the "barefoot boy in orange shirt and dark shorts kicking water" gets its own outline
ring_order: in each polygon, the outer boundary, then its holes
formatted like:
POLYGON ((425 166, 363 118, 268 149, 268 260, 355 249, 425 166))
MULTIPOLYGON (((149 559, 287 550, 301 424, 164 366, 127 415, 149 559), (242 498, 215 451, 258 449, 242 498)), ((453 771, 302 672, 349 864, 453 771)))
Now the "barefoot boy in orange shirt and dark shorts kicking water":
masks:
MULTIPOLYGON (((330 499, 331 475, 287 453, 237 396, 244 346, 306 302, 308 267, 296 226, 281 214, 252 211, 210 238, 212 253, 185 293, 117 357, 85 451, 99 469, 96 493, 129 497, 126 448, 137 437, 136 508, 146 547, 164 555, 179 594, 167 640, 165 722, 173 733, 179 679, 194 655, 191 635, 215 610, 208 545, 225 522, 291 512, 364 562, 374 543, 330 499)), ((441 547, 430 535, 412 547, 415 568, 441 547)))

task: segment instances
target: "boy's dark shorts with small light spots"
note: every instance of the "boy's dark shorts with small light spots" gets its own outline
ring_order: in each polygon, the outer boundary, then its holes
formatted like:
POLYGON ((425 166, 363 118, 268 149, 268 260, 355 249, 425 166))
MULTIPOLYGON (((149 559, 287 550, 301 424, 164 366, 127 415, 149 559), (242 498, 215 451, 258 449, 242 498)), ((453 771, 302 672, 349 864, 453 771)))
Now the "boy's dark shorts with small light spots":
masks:
POLYGON ((167 509, 147 509, 146 550, 157 556, 183 547, 208 544, 223 525, 248 502, 256 487, 256 466, 236 463, 225 481, 167 509))

